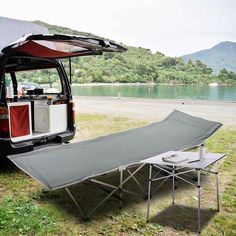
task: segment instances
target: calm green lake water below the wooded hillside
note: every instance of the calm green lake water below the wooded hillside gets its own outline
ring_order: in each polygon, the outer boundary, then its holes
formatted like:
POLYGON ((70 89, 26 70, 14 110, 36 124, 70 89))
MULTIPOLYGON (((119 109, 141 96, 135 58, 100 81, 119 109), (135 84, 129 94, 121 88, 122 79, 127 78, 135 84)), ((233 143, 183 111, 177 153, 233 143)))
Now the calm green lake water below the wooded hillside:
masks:
POLYGON ((73 85, 74 96, 111 96, 158 99, 236 101, 236 86, 208 85, 73 85))

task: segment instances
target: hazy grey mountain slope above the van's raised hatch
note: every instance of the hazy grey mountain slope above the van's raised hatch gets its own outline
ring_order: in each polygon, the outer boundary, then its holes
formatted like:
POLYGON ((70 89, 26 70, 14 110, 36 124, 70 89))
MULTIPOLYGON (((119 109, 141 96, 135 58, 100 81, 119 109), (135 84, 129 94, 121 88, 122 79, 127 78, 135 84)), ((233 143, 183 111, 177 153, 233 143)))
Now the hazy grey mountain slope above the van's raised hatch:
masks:
POLYGON ((0 50, 25 34, 46 34, 48 29, 29 21, 15 20, 0 16, 0 50))

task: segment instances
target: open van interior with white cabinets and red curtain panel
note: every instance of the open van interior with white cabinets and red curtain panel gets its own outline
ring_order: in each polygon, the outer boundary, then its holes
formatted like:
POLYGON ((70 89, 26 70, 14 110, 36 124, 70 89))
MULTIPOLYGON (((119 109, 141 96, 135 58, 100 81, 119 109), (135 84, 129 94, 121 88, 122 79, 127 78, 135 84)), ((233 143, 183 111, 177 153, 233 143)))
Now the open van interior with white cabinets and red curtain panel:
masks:
POLYGON ((67 130, 70 88, 65 76, 56 60, 7 59, 5 97, 13 143, 67 130))

